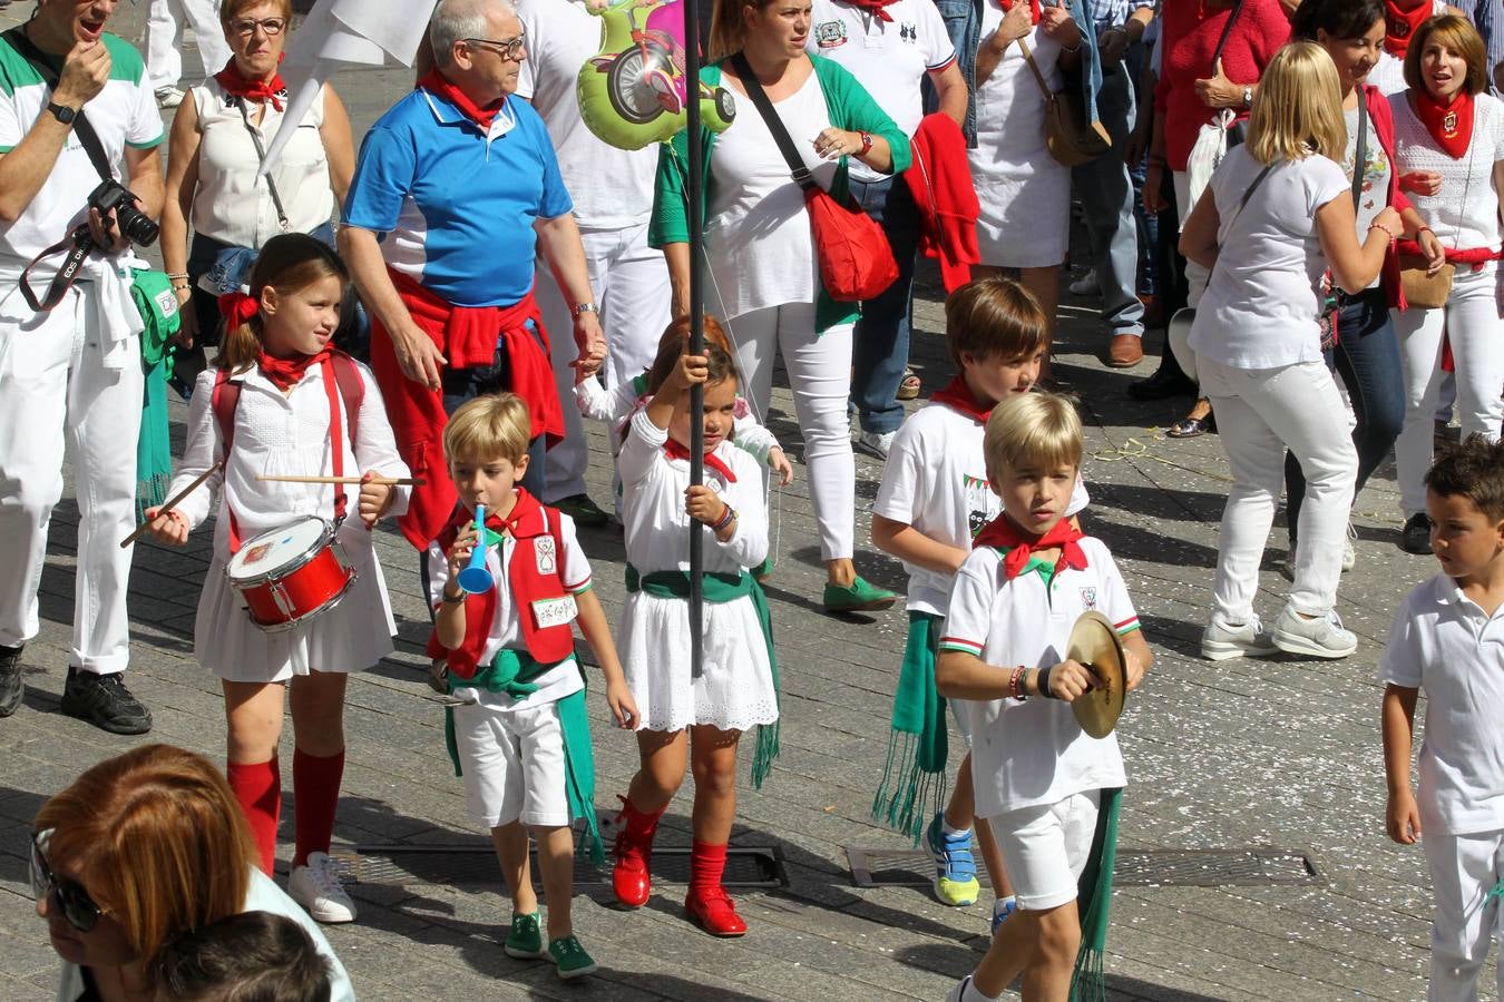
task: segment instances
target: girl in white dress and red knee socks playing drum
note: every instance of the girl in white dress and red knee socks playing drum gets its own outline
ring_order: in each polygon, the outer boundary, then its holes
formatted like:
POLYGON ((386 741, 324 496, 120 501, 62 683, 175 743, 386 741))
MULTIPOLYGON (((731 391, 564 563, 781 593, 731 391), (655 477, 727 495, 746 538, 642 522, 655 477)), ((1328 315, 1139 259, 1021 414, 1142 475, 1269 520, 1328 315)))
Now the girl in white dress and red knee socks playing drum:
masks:
POLYGON ((176 494, 217 463, 224 466, 209 478, 208 490, 190 494, 171 511, 146 512, 158 539, 183 545, 190 530, 209 515, 211 493, 220 491, 194 655, 224 688, 226 774, 268 874, 281 807, 277 744, 284 690, 290 690, 296 838, 287 891, 322 922, 355 918, 328 856, 344 772, 344 682, 349 672, 391 653, 396 632, 370 529, 408 505, 406 488, 368 482, 376 475, 408 476, 381 391, 364 365, 329 347, 347 284, 344 264, 319 240, 293 233, 266 242, 251 270, 251 294, 221 300, 226 333, 218 365, 199 376, 188 445, 168 493, 176 494), (331 442, 338 443, 338 452, 331 442), (257 479, 343 472, 362 482, 334 487, 257 479), (338 521, 346 512, 352 517, 338 521), (265 631, 251 622, 226 568, 242 541, 308 515, 335 517, 335 538, 355 580, 334 608, 290 629, 265 631))

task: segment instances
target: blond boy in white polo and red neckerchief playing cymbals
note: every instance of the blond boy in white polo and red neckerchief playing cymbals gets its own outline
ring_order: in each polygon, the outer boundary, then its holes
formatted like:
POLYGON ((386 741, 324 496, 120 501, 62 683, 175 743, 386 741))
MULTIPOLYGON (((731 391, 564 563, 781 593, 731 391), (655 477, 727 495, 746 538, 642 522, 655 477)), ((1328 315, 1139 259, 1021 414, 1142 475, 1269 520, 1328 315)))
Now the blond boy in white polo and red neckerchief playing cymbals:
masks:
POLYGON ((1105 880, 1084 915, 1077 882, 1114 838, 1123 763, 1114 735, 1089 736, 1071 712, 1095 676, 1063 652, 1075 620, 1096 610, 1122 637, 1128 690, 1154 655, 1107 547, 1065 517, 1081 448, 1081 421, 1063 397, 1012 395, 987 419, 987 481, 1003 514, 957 571, 935 682, 967 702, 976 813, 1002 847, 1018 910, 951 1002, 996 999, 1018 973, 1026 1002, 1065 1002, 1084 927, 1093 930, 1084 963, 1101 970, 1105 880))

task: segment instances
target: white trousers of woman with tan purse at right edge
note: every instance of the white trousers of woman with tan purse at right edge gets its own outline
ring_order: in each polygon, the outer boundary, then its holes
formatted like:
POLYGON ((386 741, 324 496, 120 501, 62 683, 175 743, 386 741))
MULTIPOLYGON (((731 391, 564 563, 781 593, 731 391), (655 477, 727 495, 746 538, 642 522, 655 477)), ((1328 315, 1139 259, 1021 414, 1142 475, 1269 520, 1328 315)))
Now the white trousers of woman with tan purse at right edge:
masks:
POLYGON ((1441 309, 1394 311, 1405 377, 1405 427, 1394 443, 1400 508, 1409 518, 1426 511, 1426 472, 1432 463, 1432 419, 1441 394, 1441 335, 1451 341, 1462 436, 1499 437, 1504 418, 1504 321, 1496 296, 1498 266, 1474 272, 1459 266, 1441 309))

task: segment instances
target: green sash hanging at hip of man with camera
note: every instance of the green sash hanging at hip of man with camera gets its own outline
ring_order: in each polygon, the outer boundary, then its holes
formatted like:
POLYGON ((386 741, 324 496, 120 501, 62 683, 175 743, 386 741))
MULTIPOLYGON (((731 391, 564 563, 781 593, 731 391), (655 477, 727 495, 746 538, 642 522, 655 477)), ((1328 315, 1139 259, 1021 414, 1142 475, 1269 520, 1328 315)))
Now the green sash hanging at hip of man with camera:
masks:
POLYGON ((141 371, 146 389, 141 401, 141 433, 135 440, 135 515, 146 518, 146 509, 167 500, 167 485, 173 479, 171 439, 167 433, 167 379, 173 373, 168 341, 182 318, 177 296, 162 272, 135 272, 131 299, 146 327, 141 330, 141 371))

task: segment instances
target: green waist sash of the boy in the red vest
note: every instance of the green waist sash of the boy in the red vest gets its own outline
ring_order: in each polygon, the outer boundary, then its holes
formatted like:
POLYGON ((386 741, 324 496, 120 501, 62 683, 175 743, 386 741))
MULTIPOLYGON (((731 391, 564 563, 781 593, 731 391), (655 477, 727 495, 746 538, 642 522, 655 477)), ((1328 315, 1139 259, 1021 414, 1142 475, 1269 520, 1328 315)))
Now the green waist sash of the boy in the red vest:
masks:
MULTIPOLYGON (((575 670, 584 678, 585 673, 573 656, 553 664, 540 664, 526 650, 502 647, 489 665, 475 672, 474 678, 462 679, 451 673, 448 676, 450 693, 469 688, 505 693, 520 699, 538 691, 534 679, 567 664, 575 665, 575 670)), ((602 867, 606 864, 606 847, 600 841, 600 822, 596 819, 596 756, 590 745, 590 712, 585 705, 585 690, 555 700, 553 706, 558 708, 559 727, 564 732, 564 784, 569 816, 573 820, 585 822, 585 838, 579 843, 579 852, 602 867)), ((444 744, 448 747, 450 762, 454 763, 454 775, 462 775, 459 744, 454 741, 453 706, 444 712, 444 744)))

